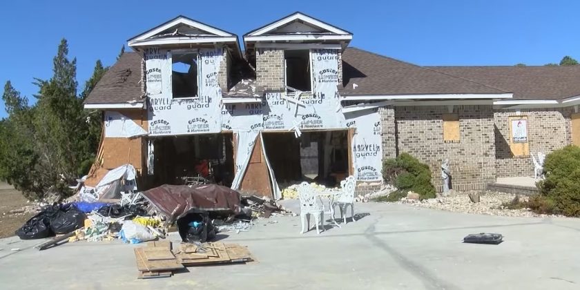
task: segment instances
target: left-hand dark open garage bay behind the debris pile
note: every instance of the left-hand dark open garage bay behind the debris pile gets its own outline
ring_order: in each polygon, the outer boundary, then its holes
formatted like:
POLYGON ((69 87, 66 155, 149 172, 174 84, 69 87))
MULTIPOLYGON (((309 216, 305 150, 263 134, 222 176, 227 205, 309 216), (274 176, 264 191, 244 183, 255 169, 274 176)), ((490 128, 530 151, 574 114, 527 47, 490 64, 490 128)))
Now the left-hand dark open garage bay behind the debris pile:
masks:
POLYGON ((221 133, 153 139, 153 187, 200 180, 231 186, 232 137, 231 133, 221 133))

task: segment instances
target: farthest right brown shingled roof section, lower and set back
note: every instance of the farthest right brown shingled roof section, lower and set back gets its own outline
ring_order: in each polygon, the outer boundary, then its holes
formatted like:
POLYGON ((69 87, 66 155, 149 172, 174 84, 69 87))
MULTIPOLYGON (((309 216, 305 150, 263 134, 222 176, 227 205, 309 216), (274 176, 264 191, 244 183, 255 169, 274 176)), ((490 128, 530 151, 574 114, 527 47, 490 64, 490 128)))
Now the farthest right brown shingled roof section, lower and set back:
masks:
POLYGON ((432 66, 514 93, 513 99, 563 99, 580 95, 580 66, 432 66))

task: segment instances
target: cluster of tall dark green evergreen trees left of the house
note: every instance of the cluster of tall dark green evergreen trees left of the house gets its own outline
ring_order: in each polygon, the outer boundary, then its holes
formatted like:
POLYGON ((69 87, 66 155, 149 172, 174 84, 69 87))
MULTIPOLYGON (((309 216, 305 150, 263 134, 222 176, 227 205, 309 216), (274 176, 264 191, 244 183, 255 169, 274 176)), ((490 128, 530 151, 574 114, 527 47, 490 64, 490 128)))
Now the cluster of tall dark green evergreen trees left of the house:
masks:
POLYGON ((49 191, 66 195, 67 185, 86 173, 95 158, 101 115, 84 110, 83 101, 107 68, 97 61, 93 76, 77 95, 76 63, 69 59, 68 43, 62 39, 52 77, 36 79, 39 93, 34 106, 28 106, 28 99, 10 82, 4 86, 2 98, 9 115, 0 122, 0 178, 28 198, 49 191))

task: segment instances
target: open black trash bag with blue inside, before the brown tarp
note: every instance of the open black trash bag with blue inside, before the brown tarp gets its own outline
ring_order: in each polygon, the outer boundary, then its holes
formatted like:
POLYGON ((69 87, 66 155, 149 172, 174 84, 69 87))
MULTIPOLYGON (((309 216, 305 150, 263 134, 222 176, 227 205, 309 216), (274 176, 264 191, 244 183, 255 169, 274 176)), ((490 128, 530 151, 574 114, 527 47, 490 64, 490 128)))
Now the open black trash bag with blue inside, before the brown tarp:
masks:
POLYGON ((206 211, 192 211, 177 220, 183 242, 206 242, 215 238, 215 227, 206 211))

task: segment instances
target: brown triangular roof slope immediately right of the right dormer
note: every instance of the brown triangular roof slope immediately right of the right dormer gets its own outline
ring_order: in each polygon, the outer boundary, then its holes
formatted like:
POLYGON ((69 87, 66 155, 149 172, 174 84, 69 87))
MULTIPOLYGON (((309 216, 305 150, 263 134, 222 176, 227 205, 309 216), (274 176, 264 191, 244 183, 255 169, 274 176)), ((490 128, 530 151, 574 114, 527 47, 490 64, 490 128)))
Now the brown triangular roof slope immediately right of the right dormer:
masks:
POLYGON ((504 90, 358 48, 342 53, 340 95, 501 94, 504 90), (353 87, 356 84, 356 88, 353 87))

